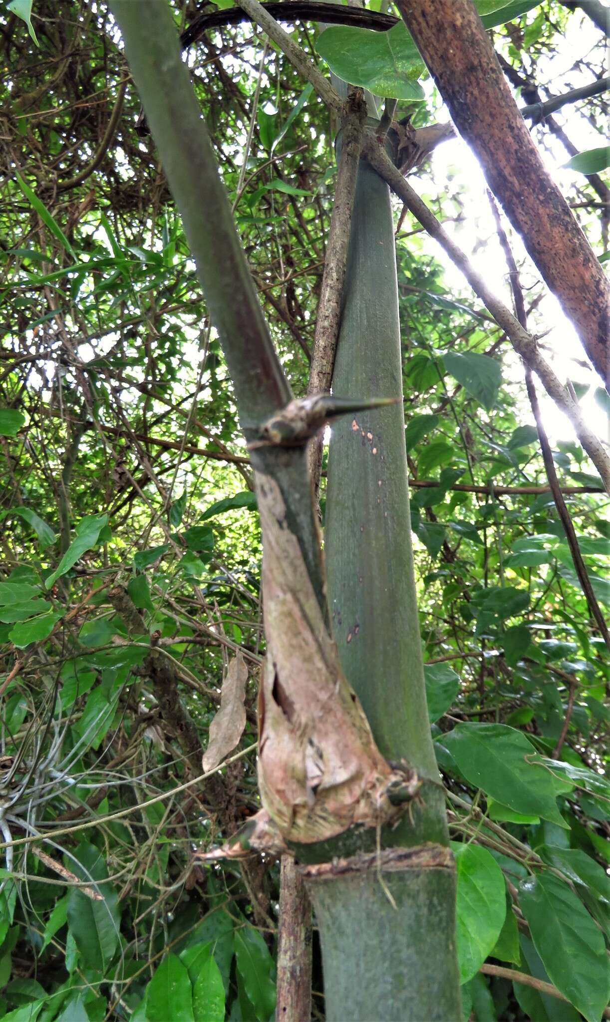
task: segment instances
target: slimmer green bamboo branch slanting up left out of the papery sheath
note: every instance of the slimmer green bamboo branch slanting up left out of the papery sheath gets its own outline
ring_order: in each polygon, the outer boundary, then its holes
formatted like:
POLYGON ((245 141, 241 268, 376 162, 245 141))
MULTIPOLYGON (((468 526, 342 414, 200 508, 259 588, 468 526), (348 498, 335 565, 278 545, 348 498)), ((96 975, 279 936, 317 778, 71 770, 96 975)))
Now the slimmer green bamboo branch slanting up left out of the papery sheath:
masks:
MULTIPOLYGON (((246 438, 291 399, 235 230, 231 204, 167 3, 111 0, 130 69, 182 217, 246 438)), ((277 479, 320 606, 326 608, 306 451, 261 448, 254 470, 277 479)))

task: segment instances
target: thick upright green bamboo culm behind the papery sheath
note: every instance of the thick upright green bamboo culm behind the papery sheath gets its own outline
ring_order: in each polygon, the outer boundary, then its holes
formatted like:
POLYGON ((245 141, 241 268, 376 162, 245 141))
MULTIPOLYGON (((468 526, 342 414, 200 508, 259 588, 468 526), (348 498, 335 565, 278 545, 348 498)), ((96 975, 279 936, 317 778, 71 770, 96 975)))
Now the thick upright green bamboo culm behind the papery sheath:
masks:
MULTIPOLYGON (((335 359, 337 393, 402 397, 393 224, 384 181, 361 160, 335 359)), ((455 876, 421 852, 449 843, 426 709, 402 403, 331 432, 325 555, 341 665, 389 760, 427 779, 367 869, 308 875, 323 950, 327 1019, 461 1018, 455 876), (381 848, 410 846, 411 868, 381 848)), ((354 838, 354 835, 351 835, 354 838)), ((362 834, 361 850, 370 847, 362 834)), ((355 847, 349 849, 354 854, 355 847)))

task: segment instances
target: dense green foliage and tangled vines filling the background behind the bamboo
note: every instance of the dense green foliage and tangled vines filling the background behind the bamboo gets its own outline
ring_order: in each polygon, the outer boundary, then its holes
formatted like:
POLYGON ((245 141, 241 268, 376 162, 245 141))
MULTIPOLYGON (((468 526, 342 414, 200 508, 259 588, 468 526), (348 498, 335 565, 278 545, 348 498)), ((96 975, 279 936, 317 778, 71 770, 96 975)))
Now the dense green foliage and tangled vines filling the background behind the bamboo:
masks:
MULTIPOLYGON (((520 105, 601 77, 601 33, 568 6, 513 3, 492 19, 520 105)), ((193 855, 260 804, 261 535, 231 381, 110 16, 36 0, 29 34, 30 5, 10 7, 0 43, 0 1013, 267 1022, 277 864, 193 855), (216 762, 239 755, 192 783, 223 678, 239 689, 238 675, 245 724, 235 733, 219 721, 216 762)), ((195 4, 175 7, 184 28, 195 4)), ((317 55, 319 26, 294 34, 317 55)), ((215 29, 188 54, 274 340, 304 393, 332 210, 328 113, 249 25, 215 29)), ((417 127, 447 120, 422 80, 426 101, 402 99, 396 114, 417 127)), ((561 165, 598 148, 602 111, 600 95, 568 105, 533 137, 561 165)), ((460 143, 444 146, 416 187, 479 266, 497 265, 484 191, 460 143)), ((600 254, 602 164, 594 152, 589 176, 576 162, 558 178, 600 254)), ((610 937, 607 650, 520 361, 417 222, 398 203, 395 214, 420 623, 455 838, 464 1017, 594 1022, 610 937)), ((544 287, 518 239, 515 252, 530 328, 554 360, 565 325, 545 336, 544 287)), ((599 423, 607 396, 575 341, 561 358, 599 423)), ((569 423, 545 404, 543 415, 603 609, 607 498, 569 423)))

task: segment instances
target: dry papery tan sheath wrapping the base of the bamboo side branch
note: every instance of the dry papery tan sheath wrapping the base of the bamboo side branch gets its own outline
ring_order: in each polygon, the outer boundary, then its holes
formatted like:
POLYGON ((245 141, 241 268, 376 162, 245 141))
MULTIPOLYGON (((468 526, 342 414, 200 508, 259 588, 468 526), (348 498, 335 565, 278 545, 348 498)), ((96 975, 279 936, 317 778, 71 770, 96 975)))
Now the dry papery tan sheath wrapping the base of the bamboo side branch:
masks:
POLYGON ((256 473, 268 654, 259 708, 259 787, 287 840, 324 841, 396 816, 400 780, 377 749, 339 664, 277 482, 256 473))

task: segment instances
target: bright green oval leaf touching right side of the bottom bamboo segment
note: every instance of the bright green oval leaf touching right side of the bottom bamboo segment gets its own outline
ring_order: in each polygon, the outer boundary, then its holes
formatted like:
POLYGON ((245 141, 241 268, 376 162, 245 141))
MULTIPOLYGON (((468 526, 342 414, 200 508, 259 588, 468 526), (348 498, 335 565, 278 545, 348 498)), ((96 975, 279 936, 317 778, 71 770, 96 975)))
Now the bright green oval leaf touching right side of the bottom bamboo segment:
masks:
POLYGON ((476 975, 500 936, 506 916, 506 886, 486 848, 452 841, 456 857, 456 934, 460 982, 476 975))

